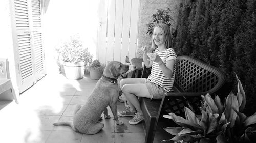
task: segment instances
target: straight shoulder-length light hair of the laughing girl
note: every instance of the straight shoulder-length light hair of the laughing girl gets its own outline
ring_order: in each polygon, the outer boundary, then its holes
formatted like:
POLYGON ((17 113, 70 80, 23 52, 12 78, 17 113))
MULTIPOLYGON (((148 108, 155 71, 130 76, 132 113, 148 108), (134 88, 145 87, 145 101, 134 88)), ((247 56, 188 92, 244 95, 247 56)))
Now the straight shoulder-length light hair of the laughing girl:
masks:
MULTIPOLYGON (((170 33, 169 26, 166 24, 156 24, 154 29, 156 27, 159 27, 164 33, 164 36, 166 38, 166 41, 164 44, 165 44, 166 48, 171 48, 172 47, 172 33, 170 33)), ((156 49, 157 45, 155 44, 155 42, 153 40, 153 34, 152 34, 152 38, 151 38, 151 43, 152 43, 152 49, 156 49)))

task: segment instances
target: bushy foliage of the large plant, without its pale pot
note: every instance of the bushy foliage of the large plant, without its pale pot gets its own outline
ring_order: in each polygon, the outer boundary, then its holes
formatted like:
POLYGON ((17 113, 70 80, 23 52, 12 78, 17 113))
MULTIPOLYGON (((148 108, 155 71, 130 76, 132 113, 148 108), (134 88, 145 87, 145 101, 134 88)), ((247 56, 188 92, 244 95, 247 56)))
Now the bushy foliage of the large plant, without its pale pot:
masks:
POLYGON ((85 62, 92 60, 92 55, 87 47, 82 46, 78 35, 70 36, 70 39, 63 42, 56 48, 59 59, 64 62, 85 62))

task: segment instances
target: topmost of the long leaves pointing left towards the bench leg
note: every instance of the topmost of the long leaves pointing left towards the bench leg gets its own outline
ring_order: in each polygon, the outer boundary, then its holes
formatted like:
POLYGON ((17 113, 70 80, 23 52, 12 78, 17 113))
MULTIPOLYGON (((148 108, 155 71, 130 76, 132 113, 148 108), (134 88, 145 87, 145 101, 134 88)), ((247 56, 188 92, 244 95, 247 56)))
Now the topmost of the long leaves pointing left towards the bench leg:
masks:
POLYGON ((185 128, 200 129, 200 125, 193 123, 192 121, 186 120, 183 117, 175 115, 175 113, 169 113, 169 115, 163 115, 164 118, 172 119, 176 124, 185 128))

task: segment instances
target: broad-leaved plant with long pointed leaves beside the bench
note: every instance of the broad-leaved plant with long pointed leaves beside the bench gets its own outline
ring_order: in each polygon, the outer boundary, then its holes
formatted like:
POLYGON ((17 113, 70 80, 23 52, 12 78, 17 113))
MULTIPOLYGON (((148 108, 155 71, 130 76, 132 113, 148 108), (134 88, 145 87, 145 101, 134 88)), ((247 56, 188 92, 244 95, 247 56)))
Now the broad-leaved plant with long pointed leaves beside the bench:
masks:
POLYGON ((253 142, 256 136, 256 113, 246 117, 241 113, 245 108, 245 92, 238 79, 238 93, 232 92, 223 104, 216 96, 202 95, 201 115, 195 115, 192 108, 184 108, 185 118, 169 113, 163 117, 172 119, 182 127, 164 128, 175 135, 172 139, 163 140, 174 142, 253 142))

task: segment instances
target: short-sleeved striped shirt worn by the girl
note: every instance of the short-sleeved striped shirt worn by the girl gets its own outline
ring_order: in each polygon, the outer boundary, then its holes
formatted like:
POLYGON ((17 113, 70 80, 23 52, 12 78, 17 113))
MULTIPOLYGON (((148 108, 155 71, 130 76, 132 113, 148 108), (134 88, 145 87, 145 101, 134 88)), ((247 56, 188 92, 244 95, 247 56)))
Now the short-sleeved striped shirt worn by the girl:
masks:
MULTIPOLYGON (((162 59, 162 61, 165 65, 166 65, 167 61, 176 60, 176 53, 175 53, 174 49, 172 49, 172 48, 168 48, 162 52, 158 51, 158 48, 157 48, 154 53, 156 53, 157 55, 160 56, 160 58, 162 59)), ((151 74, 150 74, 150 76, 148 76, 148 79, 151 82, 160 85, 160 87, 163 87, 165 92, 170 92, 170 90, 172 90, 173 84, 174 84, 175 71, 176 71, 176 64, 174 66, 173 76, 171 78, 167 78, 164 75, 164 73, 162 72, 158 63, 153 62, 151 74)))

